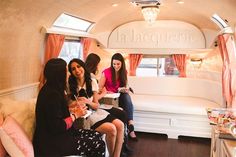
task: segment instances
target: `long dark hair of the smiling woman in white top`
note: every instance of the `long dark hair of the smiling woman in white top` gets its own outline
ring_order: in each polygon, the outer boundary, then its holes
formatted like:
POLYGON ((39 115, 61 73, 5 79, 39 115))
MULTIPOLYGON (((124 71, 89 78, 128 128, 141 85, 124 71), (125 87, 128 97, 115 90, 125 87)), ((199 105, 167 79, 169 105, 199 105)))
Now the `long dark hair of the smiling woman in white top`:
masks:
POLYGON ((91 76, 90 73, 88 72, 87 68, 85 67, 85 64, 82 60, 74 58, 70 61, 70 63, 68 64, 68 70, 70 72, 70 77, 69 77, 69 88, 72 94, 72 99, 74 99, 73 95, 78 95, 78 82, 76 80, 76 77, 73 75, 72 73, 72 69, 71 69, 71 64, 73 62, 76 62, 77 64, 79 64, 83 69, 84 69, 84 80, 85 80, 85 85, 86 85, 86 95, 88 97, 91 97, 93 95, 93 91, 92 91, 92 80, 91 80, 91 76))

